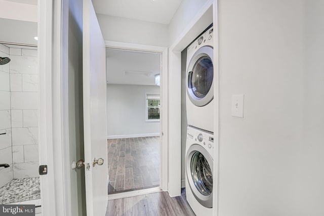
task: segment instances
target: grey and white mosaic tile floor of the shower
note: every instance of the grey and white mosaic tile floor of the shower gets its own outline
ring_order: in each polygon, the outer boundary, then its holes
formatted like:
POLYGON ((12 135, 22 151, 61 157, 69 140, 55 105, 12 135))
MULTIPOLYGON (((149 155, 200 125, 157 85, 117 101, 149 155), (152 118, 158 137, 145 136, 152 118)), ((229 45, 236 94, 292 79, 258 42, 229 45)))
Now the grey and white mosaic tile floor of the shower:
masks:
POLYGON ((0 188, 0 204, 41 199, 39 177, 14 179, 0 188))

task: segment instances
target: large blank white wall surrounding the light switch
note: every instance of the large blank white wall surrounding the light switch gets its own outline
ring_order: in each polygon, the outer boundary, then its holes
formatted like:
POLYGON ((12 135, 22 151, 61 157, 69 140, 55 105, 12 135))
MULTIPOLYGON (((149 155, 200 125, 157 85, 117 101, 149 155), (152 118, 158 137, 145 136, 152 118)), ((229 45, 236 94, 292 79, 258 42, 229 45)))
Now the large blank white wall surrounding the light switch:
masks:
POLYGON ((219 215, 323 215, 323 3, 219 6, 219 215))

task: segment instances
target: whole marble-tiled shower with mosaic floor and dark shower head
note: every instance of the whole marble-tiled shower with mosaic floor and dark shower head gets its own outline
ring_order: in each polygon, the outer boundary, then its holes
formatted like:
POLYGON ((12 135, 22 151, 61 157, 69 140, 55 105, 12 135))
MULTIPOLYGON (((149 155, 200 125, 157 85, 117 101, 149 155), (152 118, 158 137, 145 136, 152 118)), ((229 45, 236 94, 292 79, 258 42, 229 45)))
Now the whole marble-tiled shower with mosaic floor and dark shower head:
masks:
POLYGON ((41 205, 37 63, 37 47, 0 42, 0 205, 41 205))

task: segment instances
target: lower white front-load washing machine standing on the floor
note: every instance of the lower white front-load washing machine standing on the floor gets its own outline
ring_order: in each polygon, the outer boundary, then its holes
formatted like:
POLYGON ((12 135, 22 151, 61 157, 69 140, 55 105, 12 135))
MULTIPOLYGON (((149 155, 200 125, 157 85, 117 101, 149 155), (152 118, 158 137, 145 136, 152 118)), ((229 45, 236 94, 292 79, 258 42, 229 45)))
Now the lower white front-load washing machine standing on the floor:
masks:
POLYGON ((187 127, 186 198, 196 215, 213 213, 213 133, 187 127))

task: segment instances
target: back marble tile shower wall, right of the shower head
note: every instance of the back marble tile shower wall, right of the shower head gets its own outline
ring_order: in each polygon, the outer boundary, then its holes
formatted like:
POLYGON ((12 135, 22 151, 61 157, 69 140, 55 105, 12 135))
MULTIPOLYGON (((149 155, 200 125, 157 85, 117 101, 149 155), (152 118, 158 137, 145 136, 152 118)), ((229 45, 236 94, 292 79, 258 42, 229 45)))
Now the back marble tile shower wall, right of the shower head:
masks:
POLYGON ((13 177, 38 177, 37 50, 9 54, 13 177))

